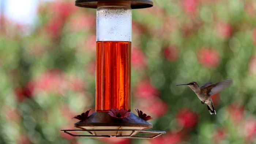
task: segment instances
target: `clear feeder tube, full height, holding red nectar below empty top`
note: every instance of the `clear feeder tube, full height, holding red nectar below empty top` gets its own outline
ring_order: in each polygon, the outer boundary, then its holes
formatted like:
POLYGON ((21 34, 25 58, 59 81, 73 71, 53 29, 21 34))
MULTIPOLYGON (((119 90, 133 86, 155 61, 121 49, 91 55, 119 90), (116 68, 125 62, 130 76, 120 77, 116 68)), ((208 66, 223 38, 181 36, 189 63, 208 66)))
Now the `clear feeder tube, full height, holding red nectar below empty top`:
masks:
POLYGON ((98 7, 96 34, 96 111, 130 111, 131 8, 98 7))

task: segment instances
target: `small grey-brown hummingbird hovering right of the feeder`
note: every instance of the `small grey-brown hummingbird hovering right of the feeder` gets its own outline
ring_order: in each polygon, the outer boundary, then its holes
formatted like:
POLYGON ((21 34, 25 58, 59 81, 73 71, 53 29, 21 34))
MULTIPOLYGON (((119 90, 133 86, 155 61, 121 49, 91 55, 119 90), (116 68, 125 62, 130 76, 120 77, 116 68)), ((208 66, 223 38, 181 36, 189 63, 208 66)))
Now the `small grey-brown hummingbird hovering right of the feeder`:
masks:
POLYGON ((176 86, 187 85, 189 86, 195 93, 196 96, 200 99, 202 104, 206 104, 208 111, 210 114, 216 114, 211 96, 217 94, 227 86, 232 83, 231 79, 223 80, 221 82, 212 84, 211 82, 205 83, 203 86, 199 87, 196 82, 191 82, 188 84, 178 84, 176 86))

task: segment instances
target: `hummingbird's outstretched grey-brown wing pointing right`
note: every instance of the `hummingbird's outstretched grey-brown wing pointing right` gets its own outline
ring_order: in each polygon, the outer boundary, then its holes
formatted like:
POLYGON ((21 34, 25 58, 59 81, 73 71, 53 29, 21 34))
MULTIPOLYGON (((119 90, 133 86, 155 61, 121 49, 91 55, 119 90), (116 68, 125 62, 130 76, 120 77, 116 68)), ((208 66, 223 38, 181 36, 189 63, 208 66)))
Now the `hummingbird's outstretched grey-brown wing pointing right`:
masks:
POLYGON ((217 94, 218 92, 220 92, 221 90, 229 86, 231 83, 232 83, 232 80, 228 79, 228 80, 223 80, 219 83, 212 84, 206 87, 206 89, 208 89, 208 95, 211 96, 211 95, 217 94))

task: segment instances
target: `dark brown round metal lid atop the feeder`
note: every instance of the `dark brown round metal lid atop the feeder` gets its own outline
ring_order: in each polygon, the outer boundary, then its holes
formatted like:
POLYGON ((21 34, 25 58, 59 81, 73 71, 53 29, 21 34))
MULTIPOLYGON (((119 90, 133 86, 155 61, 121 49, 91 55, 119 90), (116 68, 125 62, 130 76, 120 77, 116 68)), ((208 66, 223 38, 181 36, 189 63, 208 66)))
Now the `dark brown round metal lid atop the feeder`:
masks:
POLYGON ((85 8, 97 8, 98 2, 131 3, 132 9, 153 7, 153 1, 151 0, 76 0, 75 5, 85 8))

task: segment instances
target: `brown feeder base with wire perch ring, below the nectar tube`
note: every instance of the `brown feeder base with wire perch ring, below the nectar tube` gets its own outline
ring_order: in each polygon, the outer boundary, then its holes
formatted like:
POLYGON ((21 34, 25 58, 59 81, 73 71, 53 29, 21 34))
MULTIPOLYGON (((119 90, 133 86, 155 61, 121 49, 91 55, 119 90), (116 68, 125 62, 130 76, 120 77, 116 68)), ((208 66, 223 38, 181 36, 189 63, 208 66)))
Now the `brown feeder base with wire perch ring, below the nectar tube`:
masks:
POLYGON ((165 132, 146 130, 152 128, 152 124, 144 121, 131 112, 130 116, 123 120, 111 117, 108 112, 94 112, 86 120, 75 123, 79 129, 61 130, 71 136, 80 137, 127 137, 152 139, 165 132), (72 133, 71 133, 72 132, 72 133), (89 135, 74 134, 74 132, 88 132, 89 135), (146 133, 147 136, 135 136, 138 133, 146 133))

